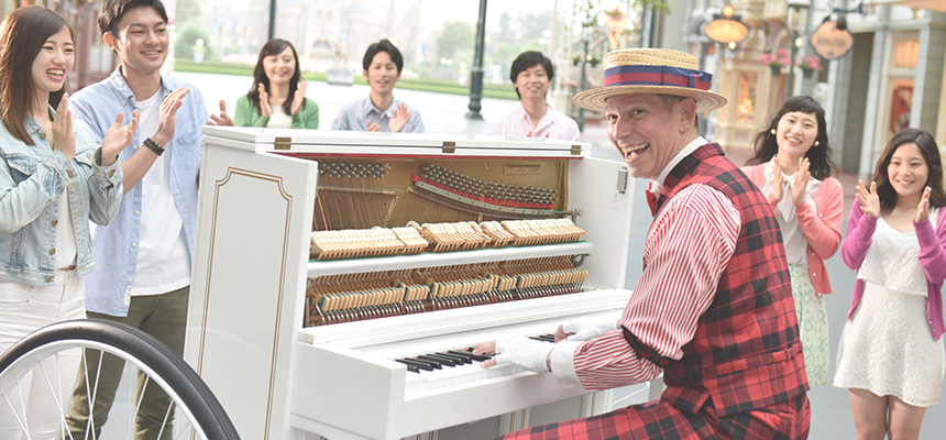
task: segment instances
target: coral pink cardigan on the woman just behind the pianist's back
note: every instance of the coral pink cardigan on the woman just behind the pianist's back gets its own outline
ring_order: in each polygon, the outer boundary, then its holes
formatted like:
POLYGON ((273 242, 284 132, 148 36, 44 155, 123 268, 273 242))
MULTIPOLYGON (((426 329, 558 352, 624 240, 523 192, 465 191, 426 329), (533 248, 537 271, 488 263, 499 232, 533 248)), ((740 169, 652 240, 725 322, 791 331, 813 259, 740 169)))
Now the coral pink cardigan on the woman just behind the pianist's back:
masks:
MULTIPOLYGON (((757 187, 761 188, 766 185, 766 166, 769 165, 747 166, 743 172, 757 187)), ((795 215, 799 217, 799 227, 809 242, 809 274, 815 287, 815 295, 821 297, 834 292, 831 288, 825 260, 831 258, 840 246, 844 193, 838 179, 827 177, 810 196, 818 207, 817 216, 807 202, 795 204, 795 215)), ((791 197, 791 195, 787 194, 784 197, 791 197)), ((772 210, 779 205, 779 200, 776 200, 771 194, 766 195, 766 200, 769 201, 772 210)))

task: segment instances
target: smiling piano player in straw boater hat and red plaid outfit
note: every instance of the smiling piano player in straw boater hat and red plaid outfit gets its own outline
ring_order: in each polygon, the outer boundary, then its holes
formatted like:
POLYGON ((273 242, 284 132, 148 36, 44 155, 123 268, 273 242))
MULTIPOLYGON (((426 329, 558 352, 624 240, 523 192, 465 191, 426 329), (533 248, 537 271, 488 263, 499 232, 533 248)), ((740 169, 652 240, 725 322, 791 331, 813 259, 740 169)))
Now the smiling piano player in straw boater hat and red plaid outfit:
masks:
POLYGON ((811 408, 781 233, 759 190, 696 131, 726 105, 690 54, 624 50, 604 86, 574 97, 604 111, 630 174, 650 178, 645 270, 618 322, 578 321, 556 344, 477 346, 494 363, 607 389, 663 373, 660 399, 507 439, 804 439, 811 408))

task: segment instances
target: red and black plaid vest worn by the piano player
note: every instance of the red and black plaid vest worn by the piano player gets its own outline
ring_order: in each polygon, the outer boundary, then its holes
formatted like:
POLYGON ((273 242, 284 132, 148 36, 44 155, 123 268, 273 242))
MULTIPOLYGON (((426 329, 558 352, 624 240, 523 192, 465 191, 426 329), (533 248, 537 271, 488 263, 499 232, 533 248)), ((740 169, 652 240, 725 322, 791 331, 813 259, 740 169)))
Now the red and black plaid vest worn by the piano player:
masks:
POLYGON ((692 184, 723 193, 741 215, 736 252, 680 361, 662 358, 625 329, 628 343, 662 366, 663 400, 724 417, 784 403, 809 388, 785 251, 765 196, 716 144, 681 161, 659 206, 692 184), (707 402, 708 400, 708 402, 707 402))

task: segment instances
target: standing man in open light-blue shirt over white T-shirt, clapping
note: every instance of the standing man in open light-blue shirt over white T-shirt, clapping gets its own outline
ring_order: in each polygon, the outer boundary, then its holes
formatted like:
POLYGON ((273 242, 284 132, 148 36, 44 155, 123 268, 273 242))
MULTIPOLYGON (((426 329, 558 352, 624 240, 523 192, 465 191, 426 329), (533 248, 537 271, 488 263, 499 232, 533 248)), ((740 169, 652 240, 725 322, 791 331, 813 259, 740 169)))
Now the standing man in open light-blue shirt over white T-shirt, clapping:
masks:
MULTIPOLYGON (((196 88, 161 75, 169 48, 167 13, 161 0, 105 0, 99 28, 121 65, 101 82, 79 90, 72 99, 74 111, 99 141, 118 112, 131 114, 138 109, 141 119, 132 141, 136 146, 119 156, 125 195, 118 217, 95 232, 100 264, 86 277, 88 316, 140 328, 183 353, 197 222, 200 127, 209 114, 196 88)), ((67 422, 75 438, 86 438, 89 425, 99 438, 123 361, 106 356, 99 371, 98 356, 86 358, 67 422), (87 396, 96 397, 90 424, 87 396)), ((170 420, 163 422, 168 404, 157 387, 145 388, 135 427, 142 437, 136 438, 156 438, 162 428, 162 439, 170 438, 170 420)))

